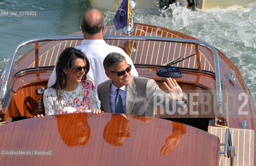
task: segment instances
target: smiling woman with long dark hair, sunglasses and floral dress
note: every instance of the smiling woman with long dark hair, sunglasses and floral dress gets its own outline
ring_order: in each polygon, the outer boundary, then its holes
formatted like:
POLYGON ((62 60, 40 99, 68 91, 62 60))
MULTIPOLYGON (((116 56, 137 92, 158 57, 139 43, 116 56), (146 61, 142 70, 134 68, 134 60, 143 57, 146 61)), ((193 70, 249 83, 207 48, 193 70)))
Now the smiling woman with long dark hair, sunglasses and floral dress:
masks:
POLYGON ((63 50, 56 65, 56 82, 44 91, 45 115, 101 112, 96 87, 86 77, 89 68, 82 51, 73 47, 63 50))

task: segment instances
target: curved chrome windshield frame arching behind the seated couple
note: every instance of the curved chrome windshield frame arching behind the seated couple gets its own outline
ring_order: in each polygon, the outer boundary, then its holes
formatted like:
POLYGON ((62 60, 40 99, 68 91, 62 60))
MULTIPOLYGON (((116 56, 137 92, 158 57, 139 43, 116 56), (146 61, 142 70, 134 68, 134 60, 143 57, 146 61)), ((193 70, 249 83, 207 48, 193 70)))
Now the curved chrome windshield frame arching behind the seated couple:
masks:
MULTIPOLYGON (((16 53, 18 50, 28 44, 35 43, 35 42, 42 42, 42 41, 58 41, 58 40, 76 40, 76 39, 83 39, 82 35, 68 35, 68 36, 53 36, 53 37, 41 37, 41 38, 34 38, 27 41, 24 41, 16 46, 14 51, 11 53, 11 57, 6 68, 6 73, 4 76, 2 91, 1 91, 1 102, 3 104, 6 92, 8 91, 7 82, 9 80, 9 75, 11 71, 12 64, 14 63, 16 53)), ((204 41, 194 40, 194 39, 184 39, 184 38, 171 38, 171 37, 151 37, 151 36, 112 36, 112 35, 105 35, 104 39, 119 39, 119 40, 154 40, 154 41, 168 41, 168 42, 176 42, 176 43, 186 43, 186 44, 194 44, 200 45, 203 47, 208 48, 212 51, 214 56, 214 65, 215 65, 215 81, 217 87, 217 103, 218 103, 218 111, 220 115, 223 115, 224 110, 224 97, 222 92, 222 81, 220 76, 220 64, 219 64, 219 55, 217 50, 211 46, 210 44, 205 43, 204 41)))

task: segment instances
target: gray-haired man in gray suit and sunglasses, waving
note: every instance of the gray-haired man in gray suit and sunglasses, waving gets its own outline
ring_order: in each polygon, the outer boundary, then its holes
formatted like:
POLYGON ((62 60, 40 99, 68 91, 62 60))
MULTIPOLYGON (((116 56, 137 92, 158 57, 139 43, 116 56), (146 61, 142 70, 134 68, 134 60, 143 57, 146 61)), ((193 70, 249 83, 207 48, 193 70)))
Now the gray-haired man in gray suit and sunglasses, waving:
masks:
POLYGON ((182 109, 187 104, 176 80, 164 82, 168 94, 161 90, 155 80, 131 76, 131 65, 120 53, 112 52, 103 61, 107 80, 98 86, 101 110, 106 113, 125 113, 154 117, 156 106, 165 109, 182 109), (160 104, 159 104, 160 103, 160 104))

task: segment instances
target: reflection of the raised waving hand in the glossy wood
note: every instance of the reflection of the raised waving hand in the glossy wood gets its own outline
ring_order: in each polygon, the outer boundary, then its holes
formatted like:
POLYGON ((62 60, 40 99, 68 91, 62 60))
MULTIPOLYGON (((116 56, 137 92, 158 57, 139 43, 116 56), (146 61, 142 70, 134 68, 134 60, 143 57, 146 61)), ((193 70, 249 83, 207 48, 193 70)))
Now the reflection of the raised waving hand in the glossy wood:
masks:
POLYGON ((172 134, 165 140, 165 145, 161 148, 160 153, 163 152, 163 156, 171 153, 174 147, 176 147, 181 139, 181 136, 186 133, 186 126, 182 123, 172 122, 172 134))

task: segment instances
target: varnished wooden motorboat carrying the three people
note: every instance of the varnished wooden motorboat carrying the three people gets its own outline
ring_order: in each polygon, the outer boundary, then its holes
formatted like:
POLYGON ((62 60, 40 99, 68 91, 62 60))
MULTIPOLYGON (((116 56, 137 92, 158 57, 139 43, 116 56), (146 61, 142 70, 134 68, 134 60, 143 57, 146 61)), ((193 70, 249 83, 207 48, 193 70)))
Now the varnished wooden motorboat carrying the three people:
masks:
POLYGON ((1 72, 1 163, 255 163, 255 107, 231 60, 204 41, 177 31, 140 23, 134 23, 133 28, 134 32, 124 35, 114 25, 107 25, 104 39, 125 50, 139 75, 156 80, 161 89, 165 89, 166 77, 157 75, 158 70, 182 72, 176 80, 189 101, 186 109, 172 114, 158 108, 154 118, 126 115, 124 119, 110 113, 32 118, 44 114, 43 91, 59 54, 66 47, 79 45, 83 35, 76 32, 30 39, 14 49, 1 72), (119 128, 124 131, 113 136, 119 128), (33 150, 41 153, 31 154, 33 150))

